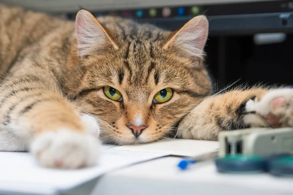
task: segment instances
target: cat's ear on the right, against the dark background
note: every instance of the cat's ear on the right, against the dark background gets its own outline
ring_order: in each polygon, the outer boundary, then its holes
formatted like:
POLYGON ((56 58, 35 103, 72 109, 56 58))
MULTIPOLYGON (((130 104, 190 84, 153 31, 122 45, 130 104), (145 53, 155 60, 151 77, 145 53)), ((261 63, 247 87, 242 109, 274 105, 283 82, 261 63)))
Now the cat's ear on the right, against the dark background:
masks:
POLYGON ((177 31, 163 49, 191 59, 204 57, 204 46, 209 32, 209 21, 205 16, 197 16, 189 20, 179 31, 177 31))

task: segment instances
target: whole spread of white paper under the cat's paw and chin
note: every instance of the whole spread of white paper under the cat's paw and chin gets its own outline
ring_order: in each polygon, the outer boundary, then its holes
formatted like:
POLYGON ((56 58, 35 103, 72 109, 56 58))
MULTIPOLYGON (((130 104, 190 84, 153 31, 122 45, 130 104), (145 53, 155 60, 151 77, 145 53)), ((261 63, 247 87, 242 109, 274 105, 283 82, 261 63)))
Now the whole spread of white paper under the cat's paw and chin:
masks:
POLYGON ((81 170, 45 169, 30 153, 0 152, 0 194, 56 195, 132 164, 168 155, 196 156, 212 152, 218 146, 218 142, 186 139, 103 145, 100 164, 81 170))

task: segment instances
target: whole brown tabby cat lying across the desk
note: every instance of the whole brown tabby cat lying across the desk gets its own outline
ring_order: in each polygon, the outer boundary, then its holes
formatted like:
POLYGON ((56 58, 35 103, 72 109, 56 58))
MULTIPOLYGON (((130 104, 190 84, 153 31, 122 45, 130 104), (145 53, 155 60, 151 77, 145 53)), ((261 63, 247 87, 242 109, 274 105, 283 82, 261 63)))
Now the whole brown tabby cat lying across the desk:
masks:
POLYGON ((135 144, 177 130, 216 140, 220 131, 293 126, 293 89, 212 95, 205 16, 177 32, 84 9, 73 22, 0 4, 0 18, 1 151, 80 168, 97 162, 98 137, 135 144))

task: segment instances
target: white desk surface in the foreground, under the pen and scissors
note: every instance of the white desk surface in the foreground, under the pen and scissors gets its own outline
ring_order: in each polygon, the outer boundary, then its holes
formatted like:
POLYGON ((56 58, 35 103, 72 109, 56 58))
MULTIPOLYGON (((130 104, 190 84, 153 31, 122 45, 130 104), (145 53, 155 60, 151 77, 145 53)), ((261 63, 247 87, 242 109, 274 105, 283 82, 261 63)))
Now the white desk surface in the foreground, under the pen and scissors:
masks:
POLYGON ((163 157, 106 174, 66 194, 86 195, 292 195, 293 178, 268 174, 226 175, 212 161, 188 171, 180 158, 163 157))

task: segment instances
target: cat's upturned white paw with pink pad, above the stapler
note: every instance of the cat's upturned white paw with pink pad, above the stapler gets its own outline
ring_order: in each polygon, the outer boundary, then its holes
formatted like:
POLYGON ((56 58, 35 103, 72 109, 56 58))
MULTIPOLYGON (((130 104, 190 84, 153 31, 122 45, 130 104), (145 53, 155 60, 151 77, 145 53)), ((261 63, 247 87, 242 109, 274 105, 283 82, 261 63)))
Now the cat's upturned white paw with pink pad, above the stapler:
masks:
POLYGON ((275 89, 261 99, 251 99, 246 103, 246 110, 259 115, 259 123, 262 119, 267 126, 293 127, 293 89, 275 89))

